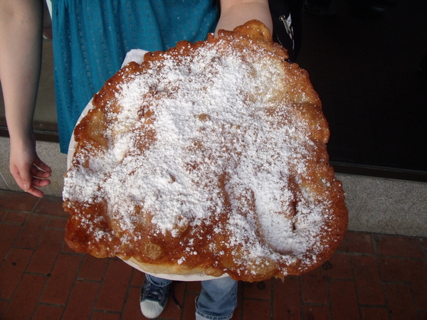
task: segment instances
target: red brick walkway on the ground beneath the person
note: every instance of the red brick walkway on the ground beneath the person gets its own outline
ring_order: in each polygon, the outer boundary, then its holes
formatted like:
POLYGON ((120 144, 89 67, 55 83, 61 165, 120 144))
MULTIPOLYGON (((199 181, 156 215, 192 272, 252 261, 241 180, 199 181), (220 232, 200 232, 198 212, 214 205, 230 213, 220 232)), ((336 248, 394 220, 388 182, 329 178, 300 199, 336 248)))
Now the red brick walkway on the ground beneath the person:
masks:
MULTIPOLYGON (((0 319, 144 319, 144 275, 72 252, 61 200, 0 191, 0 319)), ((427 239, 349 232, 332 259, 285 282, 241 283, 233 319, 427 319, 427 239)), ((194 319, 199 282, 159 319, 194 319)))

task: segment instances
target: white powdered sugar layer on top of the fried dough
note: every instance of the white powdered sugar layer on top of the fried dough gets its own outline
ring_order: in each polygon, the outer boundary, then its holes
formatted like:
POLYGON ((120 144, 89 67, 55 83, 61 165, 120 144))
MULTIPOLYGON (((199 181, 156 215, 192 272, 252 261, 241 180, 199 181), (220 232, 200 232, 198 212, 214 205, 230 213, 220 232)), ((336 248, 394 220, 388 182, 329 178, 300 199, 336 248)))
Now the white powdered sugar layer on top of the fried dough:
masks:
POLYGON ((243 245, 246 259, 301 258, 316 246, 324 208, 292 178, 306 171, 312 147, 303 119, 275 100, 283 90, 275 80, 292 79, 267 59, 221 50, 152 62, 123 82, 114 101, 120 111, 107 114, 107 151, 68 172, 63 196, 107 199, 112 219, 131 232, 142 206, 157 233, 174 237, 228 212, 227 245, 243 245), (144 144, 141 131, 154 139, 144 144))

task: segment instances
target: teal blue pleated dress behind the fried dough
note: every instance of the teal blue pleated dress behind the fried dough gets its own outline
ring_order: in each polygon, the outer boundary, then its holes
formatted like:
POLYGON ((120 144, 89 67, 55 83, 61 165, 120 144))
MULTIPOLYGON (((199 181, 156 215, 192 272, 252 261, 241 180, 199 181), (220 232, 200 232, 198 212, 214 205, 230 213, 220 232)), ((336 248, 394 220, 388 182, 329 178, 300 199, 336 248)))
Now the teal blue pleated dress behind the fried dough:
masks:
POLYGON ((204 40, 218 22, 216 0, 52 0, 60 151, 80 113, 128 51, 167 50, 204 40))

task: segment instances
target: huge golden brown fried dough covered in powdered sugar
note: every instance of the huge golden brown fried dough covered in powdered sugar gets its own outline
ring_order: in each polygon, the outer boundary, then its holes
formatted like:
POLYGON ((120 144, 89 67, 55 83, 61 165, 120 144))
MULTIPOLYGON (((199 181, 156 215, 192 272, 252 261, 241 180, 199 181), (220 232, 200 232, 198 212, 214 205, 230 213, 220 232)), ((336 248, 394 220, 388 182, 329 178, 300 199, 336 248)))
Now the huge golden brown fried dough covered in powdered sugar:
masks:
POLYGON ((65 239, 152 273, 259 281, 329 259, 347 228, 307 72, 250 21, 130 63, 75 127, 65 239))

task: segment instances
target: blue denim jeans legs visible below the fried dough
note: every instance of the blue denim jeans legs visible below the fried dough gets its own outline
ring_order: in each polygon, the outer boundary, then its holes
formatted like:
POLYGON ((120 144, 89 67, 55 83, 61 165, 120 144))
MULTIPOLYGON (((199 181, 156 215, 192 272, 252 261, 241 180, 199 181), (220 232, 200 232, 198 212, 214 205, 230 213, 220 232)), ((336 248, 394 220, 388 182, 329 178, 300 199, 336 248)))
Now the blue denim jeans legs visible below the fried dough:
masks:
MULTIPOLYGON (((163 287, 172 281, 145 274, 152 284, 163 287)), ((196 299, 196 320, 228 320, 237 306, 237 281, 230 277, 201 282, 201 292, 196 299)))

